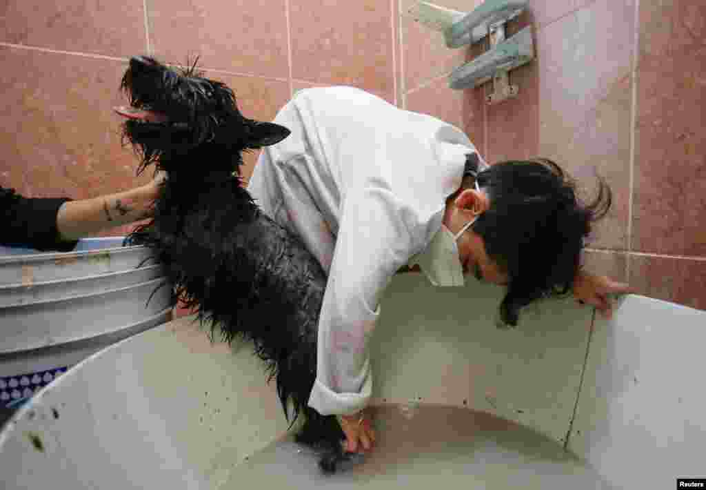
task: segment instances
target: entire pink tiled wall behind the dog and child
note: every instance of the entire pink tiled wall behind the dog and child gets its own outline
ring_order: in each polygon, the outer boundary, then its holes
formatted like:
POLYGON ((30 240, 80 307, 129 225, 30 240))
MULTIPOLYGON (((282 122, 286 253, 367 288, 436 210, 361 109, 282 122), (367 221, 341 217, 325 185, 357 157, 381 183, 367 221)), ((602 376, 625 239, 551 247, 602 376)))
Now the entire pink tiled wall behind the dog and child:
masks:
POLYGON ((511 31, 534 26, 537 59, 511 75, 517 100, 486 107, 487 87, 452 91, 446 79, 483 48, 446 48, 400 16, 412 1, 5 1, 0 185, 85 198, 145 182, 112 112, 126 61, 198 55, 256 119, 298 88, 347 83, 463 127, 490 162, 554 158, 588 192, 596 168, 615 202, 590 266, 706 309, 706 4, 530 0, 511 31))

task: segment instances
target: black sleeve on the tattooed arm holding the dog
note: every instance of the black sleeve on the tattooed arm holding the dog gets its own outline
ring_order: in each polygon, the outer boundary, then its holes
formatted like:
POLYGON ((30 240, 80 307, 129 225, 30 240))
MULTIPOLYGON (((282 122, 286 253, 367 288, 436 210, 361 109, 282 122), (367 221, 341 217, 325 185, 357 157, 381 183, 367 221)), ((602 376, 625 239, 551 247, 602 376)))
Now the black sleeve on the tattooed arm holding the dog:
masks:
POLYGON ((59 240, 56 215, 68 197, 26 198, 0 187, 0 243, 46 252, 69 252, 78 240, 59 240))

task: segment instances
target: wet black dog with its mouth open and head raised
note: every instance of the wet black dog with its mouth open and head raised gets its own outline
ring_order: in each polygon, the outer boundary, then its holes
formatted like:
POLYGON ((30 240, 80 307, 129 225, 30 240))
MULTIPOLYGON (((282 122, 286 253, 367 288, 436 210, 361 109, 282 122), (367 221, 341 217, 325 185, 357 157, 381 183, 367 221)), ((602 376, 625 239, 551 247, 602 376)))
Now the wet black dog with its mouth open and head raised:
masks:
MULTIPOLYGON (((167 173, 155 216, 128 236, 150 247, 181 300, 227 342, 251 340, 292 424, 305 417, 297 441, 323 450, 321 469, 347 459, 334 416, 307 405, 316 378, 316 342, 326 276, 316 258, 265 216, 244 189, 241 153, 289 135, 277 124, 241 115, 233 92, 195 67, 174 69, 133 57, 122 79, 131 107, 124 136, 167 173)), ((234 373, 237 375, 237 373, 234 373)), ((247 396, 246 393, 241 396, 247 396)))

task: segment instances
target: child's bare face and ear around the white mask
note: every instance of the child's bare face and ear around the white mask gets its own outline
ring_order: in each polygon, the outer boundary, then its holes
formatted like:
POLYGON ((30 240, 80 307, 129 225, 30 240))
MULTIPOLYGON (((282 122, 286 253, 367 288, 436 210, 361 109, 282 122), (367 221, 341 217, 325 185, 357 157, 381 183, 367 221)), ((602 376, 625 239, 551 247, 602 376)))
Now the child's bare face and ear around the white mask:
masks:
MULTIPOLYGON (((489 206, 488 196, 482 190, 465 189, 446 206, 443 223, 452 233, 457 233, 489 206)), ((471 228, 458 237, 457 245, 464 274, 470 274, 479 281, 501 286, 508 284, 508 275, 488 257, 483 238, 471 228)))

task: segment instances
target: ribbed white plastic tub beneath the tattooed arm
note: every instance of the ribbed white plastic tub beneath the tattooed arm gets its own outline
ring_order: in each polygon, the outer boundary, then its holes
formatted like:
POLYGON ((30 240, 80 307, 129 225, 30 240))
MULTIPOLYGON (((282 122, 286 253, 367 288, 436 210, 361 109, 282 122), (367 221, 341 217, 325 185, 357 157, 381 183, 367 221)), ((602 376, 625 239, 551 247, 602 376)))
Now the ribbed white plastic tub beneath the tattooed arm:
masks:
POLYGON ((162 267, 145 247, 123 243, 88 238, 72 252, 0 247, 0 408, 172 318, 162 267))

